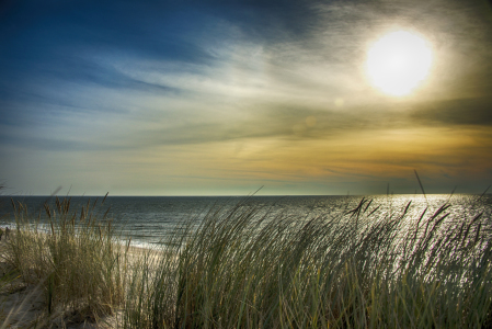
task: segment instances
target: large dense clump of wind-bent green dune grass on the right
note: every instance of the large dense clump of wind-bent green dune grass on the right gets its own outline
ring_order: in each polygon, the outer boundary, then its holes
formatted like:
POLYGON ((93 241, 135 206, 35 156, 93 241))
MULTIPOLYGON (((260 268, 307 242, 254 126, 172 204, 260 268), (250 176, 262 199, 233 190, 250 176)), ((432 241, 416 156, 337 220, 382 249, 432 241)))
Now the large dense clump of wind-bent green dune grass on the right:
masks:
POLYGON ((247 206, 184 223, 135 268, 124 328, 488 328, 490 218, 247 206), (484 229, 487 226, 487 229, 484 229))

